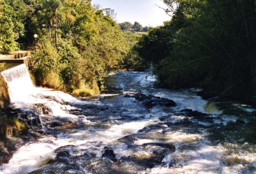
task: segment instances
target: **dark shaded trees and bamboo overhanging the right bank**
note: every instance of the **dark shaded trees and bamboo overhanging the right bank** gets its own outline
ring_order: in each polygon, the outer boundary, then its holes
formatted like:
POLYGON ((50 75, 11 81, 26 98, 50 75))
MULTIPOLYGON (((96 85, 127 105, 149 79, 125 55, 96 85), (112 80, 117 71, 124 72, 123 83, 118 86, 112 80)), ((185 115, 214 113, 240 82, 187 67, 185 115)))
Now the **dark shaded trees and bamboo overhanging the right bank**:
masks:
POLYGON ((135 50, 163 87, 219 96, 256 94, 255 0, 163 0, 172 20, 151 28, 135 50))

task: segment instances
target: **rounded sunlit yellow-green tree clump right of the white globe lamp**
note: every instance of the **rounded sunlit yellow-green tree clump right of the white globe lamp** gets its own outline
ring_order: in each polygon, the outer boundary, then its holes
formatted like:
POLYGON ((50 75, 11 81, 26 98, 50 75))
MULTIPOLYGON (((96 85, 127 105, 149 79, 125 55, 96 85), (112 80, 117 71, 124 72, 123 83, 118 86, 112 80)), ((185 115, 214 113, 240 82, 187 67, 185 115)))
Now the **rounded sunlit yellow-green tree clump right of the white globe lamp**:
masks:
POLYGON ((49 41, 48 30, 37 29, 42 49, 33 52, 30 61, 36 84, 80 96, 87 95, 88 90, 99 93, 106 72, 121 67, 128 43, 116 27, 111 9, 105 9, 104 14, 103 10, 93 9, 90 0, 58 2, 48 0, 34 5, 34 21, 47 26, 52 21, 58 23, 58 43, 54 43, 53 34, 49 41), (51 2, 57 5, 48 8, 51 2))

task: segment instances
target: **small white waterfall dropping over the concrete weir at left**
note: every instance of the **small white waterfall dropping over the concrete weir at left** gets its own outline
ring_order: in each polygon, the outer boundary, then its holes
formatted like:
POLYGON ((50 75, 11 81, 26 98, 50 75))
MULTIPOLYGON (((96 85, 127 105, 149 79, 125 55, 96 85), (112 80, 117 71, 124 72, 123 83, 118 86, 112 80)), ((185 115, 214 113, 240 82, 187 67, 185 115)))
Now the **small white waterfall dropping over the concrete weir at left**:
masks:
POLYGON ((29 72, 25 64, 5 70, 1 73, 8 84, 11 102, 24 102, 29 94, 35 91, 29 72))

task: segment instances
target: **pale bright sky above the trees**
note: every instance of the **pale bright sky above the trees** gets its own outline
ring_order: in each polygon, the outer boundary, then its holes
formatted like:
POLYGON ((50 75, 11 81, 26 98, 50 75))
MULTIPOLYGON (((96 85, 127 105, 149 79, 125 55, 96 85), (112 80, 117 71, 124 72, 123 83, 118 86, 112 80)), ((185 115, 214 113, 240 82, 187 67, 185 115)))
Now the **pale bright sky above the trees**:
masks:
POLYGON ((116 22, 130 22, 134 24, 135 21, 144 26, 160 26, 163 21, 170 20, 163 9, 166 5, 161 0, 92 0, 93 4, 99 4, 102 9, 111 8, 116 13, 116 22))

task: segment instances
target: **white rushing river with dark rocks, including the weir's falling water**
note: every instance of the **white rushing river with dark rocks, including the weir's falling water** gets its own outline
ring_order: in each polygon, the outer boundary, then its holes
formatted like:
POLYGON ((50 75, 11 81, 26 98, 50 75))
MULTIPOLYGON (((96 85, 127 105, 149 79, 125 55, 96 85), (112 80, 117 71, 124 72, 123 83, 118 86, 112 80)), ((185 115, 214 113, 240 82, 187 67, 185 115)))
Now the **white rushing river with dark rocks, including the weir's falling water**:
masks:
POLYGON ((12 107, 38 114, 44 133, 0 173, 256 174, 256 109, 248 105, 154 88, 150 71, 110 73, 106 92, 90 99, 34 87, 24 65, 2 74, 12 107), (136 93, 176 105, 148 105, 136 93))

